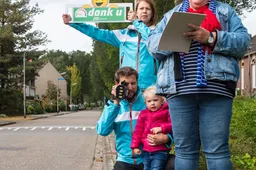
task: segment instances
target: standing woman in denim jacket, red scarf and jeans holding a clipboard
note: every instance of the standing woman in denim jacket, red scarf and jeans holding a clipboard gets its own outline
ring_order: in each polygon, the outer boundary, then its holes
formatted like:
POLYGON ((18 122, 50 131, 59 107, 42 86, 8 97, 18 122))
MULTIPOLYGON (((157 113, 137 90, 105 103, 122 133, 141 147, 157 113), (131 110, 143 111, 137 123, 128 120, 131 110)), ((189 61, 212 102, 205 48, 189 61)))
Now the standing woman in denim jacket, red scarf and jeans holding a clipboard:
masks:
POLYGON ((149 34, 148 49, 160 61, 157 92, 166 95, 171 110, 176 170, 198 169, 201 144, 208 170, 232 169, 228 139, 239 78, 237 61, 249 43, 235 10, 216 0, 184 0, 149 34), (168 19, 176 11, 207 15, 201 26, 190 24, 193 31, 184 33, 192 40, 188 54, 158 49, 168 19), (174 56, 181 60, 181 80, 175 80, 174 56))

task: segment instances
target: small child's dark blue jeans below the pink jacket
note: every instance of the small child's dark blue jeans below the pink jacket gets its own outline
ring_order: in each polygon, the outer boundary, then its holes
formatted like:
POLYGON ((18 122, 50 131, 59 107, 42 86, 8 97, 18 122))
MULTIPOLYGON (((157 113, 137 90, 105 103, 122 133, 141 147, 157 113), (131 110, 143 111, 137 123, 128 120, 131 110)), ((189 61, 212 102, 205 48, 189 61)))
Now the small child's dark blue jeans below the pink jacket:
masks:
POLYGON ((144 152, 144 170, 163 170, 169 151, 144 152))

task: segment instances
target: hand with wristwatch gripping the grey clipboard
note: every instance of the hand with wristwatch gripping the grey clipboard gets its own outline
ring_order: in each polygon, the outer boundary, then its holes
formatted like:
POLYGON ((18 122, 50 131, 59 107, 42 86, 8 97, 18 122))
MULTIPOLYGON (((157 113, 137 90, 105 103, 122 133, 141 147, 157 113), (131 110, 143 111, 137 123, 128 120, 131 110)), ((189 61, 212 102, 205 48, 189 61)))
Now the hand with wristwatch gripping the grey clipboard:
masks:
MULTIPOLYGON (((202 44, 207 44, 208 43, 208 38, 210 36, 210 32, 202 27, 196 26, 194 24, 188 24, 190 28, 193 29, 193 31, 190 32, 185 32, 184 36, 187 37, 188 39, 200 42, 202 44)), ((214 41, 212 44, 214 44, 216 40, 216 33, 213 32, 213 37, 214 41)))

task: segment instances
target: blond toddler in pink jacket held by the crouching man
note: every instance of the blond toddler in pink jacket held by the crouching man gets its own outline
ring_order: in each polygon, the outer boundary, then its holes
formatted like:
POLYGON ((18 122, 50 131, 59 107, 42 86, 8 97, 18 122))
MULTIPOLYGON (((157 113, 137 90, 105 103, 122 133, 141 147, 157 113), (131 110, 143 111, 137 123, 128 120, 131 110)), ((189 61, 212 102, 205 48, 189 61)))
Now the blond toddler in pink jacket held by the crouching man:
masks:
POLYGON ((162 170, 168 159, 170 148, 165 144, 151 146, 148 144, 148 134, 171 134, 172 123, 168 104, 163 96, 156 95, 156 87, 150 86, 144 91, 146 109, 139 114, 132 136, 131 148, 135 154, 141 154, 140 145, 143 144, 144 170, 162 170))

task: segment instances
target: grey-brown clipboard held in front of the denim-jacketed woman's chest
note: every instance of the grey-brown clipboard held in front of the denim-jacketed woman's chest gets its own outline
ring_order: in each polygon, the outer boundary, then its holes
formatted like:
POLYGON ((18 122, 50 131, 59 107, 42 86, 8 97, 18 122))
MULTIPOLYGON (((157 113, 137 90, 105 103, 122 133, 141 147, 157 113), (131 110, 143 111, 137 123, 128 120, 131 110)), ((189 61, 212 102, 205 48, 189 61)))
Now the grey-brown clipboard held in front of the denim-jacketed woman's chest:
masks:
POLYGON ((174 12, 163 31, 159 49, 188 53, 191 40, 183 33, 192 30, 188 24, 200 26, 205 17, 205 14, 174 12))

